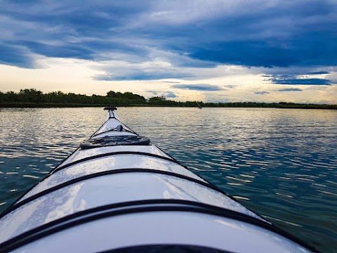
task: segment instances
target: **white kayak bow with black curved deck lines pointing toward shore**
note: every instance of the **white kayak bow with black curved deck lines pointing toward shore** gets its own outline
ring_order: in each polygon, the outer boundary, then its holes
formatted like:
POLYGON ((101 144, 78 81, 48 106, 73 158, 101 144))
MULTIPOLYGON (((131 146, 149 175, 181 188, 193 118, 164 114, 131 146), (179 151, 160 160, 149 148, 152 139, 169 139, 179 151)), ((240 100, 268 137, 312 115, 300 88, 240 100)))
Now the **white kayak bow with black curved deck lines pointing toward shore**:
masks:
POLYGON ((107 120, 0 216, 0 252, 315 252, 107 120))

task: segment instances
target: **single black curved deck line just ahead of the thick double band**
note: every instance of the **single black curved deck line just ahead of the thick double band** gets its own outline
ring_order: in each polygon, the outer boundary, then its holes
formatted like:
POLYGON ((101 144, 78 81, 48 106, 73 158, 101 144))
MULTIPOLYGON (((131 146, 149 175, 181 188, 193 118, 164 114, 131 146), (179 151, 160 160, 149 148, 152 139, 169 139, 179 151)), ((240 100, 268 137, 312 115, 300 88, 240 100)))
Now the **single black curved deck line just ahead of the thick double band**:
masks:
MULTIPOLYGON (((13 212, 15 209, 17 209, 19 207, 22 207, 22 205, 27 204, 28 202, 36 200, 37 198, 42 197, 44 195, 47 195, 48 193, 53 193, 55 190, 59 190, 59 189, 64 188, 66 186, 70 186, 74 183, 78 183, 78 182, 85 181, 85 180, 88 180, 88 179, 93 179, 93 178, 99 177, 99 176, 107 176, 107 175, 122 174, 122 173, 133 173, 133 172, 164 174, 164 175, 167 175, 167 176, 174 176, 174 177, 179 178, 179 179, 185 179, 187 181, 199 183, 202 186, 206 186, 207 188, 211 188, 212 190, 216 190, 220 193, 223 193, 222 190, 220 190, 216 186, 213 186, 212 184, 206 183, 204 181, 200 181, 198 179, 194 179, 190 176, 184 176, 184 175, 177 174, 177 173, 170 172, 170 171, 160 171, 160 170, 157 170, 157 169, 114 169, 114 170, 110 170, 110 171, 101 171, 101 172, 97 172, 97 173, 94 173, 94 174, 81 176, 77 179, 72 179, 72 180, 67 181, 65 183, 60 183, 58 186, 53 186, 52 188, 48 188, 46 190, 41 191, 40 193, 34 194, 30 197, 27 197, 25 200, 21 200, 20 202, 16 202, 14 205, 11 206, 11 208, 6 209, 6 211, 1 214, 0 219, 2 217, 6 216, 6 214, 8 214, 10 212, 13 212)), ((228 196, 228 197, 230 197, 230 196, 228 196)), ((234 199, 232 198, 232 200, 234 200, 234 199)))

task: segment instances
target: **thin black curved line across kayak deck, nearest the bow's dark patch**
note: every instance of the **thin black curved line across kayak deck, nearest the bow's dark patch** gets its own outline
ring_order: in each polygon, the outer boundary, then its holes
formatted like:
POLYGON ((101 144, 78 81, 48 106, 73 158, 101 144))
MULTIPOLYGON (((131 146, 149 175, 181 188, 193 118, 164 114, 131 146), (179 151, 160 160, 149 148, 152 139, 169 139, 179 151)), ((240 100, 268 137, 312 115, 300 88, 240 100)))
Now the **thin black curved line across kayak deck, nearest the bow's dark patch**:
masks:
POLYGON ((76 160, 74 162, 70 162, 68 164, 56 167, 55 169, 53 169, 53 171, 51 171, 51 174, 53 174, 56 171, 59 171, 61 169, 65 169, 67 167, 70 167, 74 164, 78 164, 80 162, 86 162, 89 160, 94 160, 97 158, 101 158, 101 157, 107 157, 110 155, 145 155, 145 156, 150 156, 150 157, 156 157, 162 160, 166 160, 169 162, 174 162, 176 164, 179 164, 181 167, 184 167, 185 169, 187 169, 187 167, 183 166, 182 164, 180 164, 180 162, 178 162, 176 159, 172 158, 172 157, 164 157, 163 155, 157 155, 157 154, 152 154, 152 153, 145 153, 145 152, 138 152, 138 151, 118 151, 118 152, 110 152, 110 153, 104 153, 104 154, 99 154, 99 155, 93 155, 91 157, 84 157, 80 160, 76 160))

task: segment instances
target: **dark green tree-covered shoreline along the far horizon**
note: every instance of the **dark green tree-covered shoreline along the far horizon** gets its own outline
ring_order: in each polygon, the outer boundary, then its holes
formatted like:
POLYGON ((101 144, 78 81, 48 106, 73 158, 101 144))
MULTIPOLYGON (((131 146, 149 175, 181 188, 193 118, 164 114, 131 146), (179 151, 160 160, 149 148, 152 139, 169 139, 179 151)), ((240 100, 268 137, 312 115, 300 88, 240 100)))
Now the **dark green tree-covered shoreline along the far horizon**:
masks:
POLYGON ((0 91, 0 108, 4 107, 84 107, 84 106, 176 106, 176 107, 226 107, 226 108, 303 108, 303 109, 334 109, 337 105, 317 105, 317 104, 298 104, 298 103, 256 103, 256 102, 237 102, 237 103, 203 103, 201 101, 177 102, 173 100, 150 99, 146 100, 143 96, 131 92, 107 92, 107 96, 86 96, 75 93, 62 93, 53 91, 43 93, 36 89, 21 89, 18 93, 0 91))

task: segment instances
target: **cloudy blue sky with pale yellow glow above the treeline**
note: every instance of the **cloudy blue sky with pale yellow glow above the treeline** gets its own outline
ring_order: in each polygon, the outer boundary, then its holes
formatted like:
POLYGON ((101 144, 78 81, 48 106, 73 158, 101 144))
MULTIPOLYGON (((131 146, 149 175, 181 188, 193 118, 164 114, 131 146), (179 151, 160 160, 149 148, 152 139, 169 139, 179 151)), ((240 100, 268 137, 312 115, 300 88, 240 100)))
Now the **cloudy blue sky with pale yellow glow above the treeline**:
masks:
POLYGON ((337 104, 337 0, 0 0, 0 91, 337 104))

